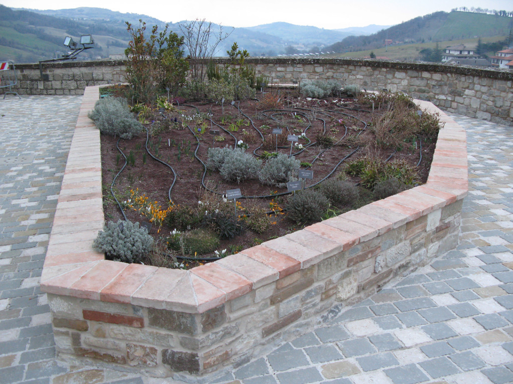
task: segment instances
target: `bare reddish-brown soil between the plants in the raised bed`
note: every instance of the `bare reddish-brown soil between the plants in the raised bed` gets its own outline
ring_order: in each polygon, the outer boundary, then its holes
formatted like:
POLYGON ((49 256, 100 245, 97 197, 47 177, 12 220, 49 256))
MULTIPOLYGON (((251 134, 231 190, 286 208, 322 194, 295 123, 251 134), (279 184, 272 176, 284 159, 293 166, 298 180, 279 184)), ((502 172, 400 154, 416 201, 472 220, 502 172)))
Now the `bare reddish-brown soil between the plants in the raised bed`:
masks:
MULTIPOLYGON (((257 96, 259 97, 259 96, 257 96)), ((302 162, 313 163, 311 170, 313 170, 313 179, 306 180, 306 186, 312 185, 325 178, 328 174, 331 177, 336 177, 344 168, 344 163, 336 168, 337 164, 345 156, 349 155, 357 148, 357 134, 364 129, 365 124, 362 121, 370 123, 370 121, 377 116, 372 116, 368 108, 362 105, 356 105, 353 100, 345 99, 346 103, 341 104, 341 99, 328 99, 328 100, 305 100, 304 98, 298 99, 297 97, 290 98, 281 106, 281 112, 272 111, 266 112, 261 109, 261 104, 255 100, 242 101, 239 105, 240 113, 235 106, 230 104, 221 106, 212 103, 188 103, 187 105, 174 105, 175 109, 167 112, 159 112, 155 110, 145 124, 150 132, 148 139, 148 148, 150 152, 163 162, 171 165, 176 174, 176 181, 171 190, 171 200, 174 204, 192 205, 197 206, 198 201, 204 194, 202 187, 202 178, 204 175, 204 166, 194 157, 194 151, 197 148, 197 156, 206 163, 207 149, 209 147, 233 147, 238 140, 243 140, 248 144, 246 152, 252 153, 258 146, 262 144, 260 134, 256 129, 259 129, 264 136, 264 143, 267 146, 261 147, 255 151, 255 154, 262 155, 265 151, 275 152, 274 143, 275 136, 271 134, 271 130, 275 127, 283 128, 283 137, 279 137, 280 141, 285 144, 282 148, 278 148, 278 152, 289 154, 290 142, 287 141, 286 135, 300 135, 306 130, 306 136, 315 141, 316 137, 324 130, 326 126, 327 135, 334 138, 336 145, 328 149, 321 148, 318 145, 311 145, 305 147, 303 151, 293 147, 292 154, 300 159, 302 162), (337 102, 334 102, 337 101, 337 102), (347 108, 341 108, 339 105, 345 105, 347 108), (224 108, 224 114, 223 114, 224 108), (351 110, 353 109, 353 110, 351 110), (354 110, 358 109, 358 111, 354 110), (188 123, 188 127, 184 127, 180 121, 185 121, 183 115, 192 116, 200 111, 201 113, 212 114, 212 121, 204 120, 206 130, 204 133, 199 133, 198 128, 201 129, 201 123, 197 124, 194 121, 188 123), (224 119, 223 119, 224 116, 224 119), (177 122, 174 119, 177 119, 177 122), (231 131, 230 124, 236 124, 239 119, 243 119, 244 123, 239 127, 238 131, 231 131), (343 119, 343 122, 339 122, 343 119), (250 122, 252 121, 252 124, 250 122), (324 120, 324 121, 323 121, 324 120), (217 125, 219 124, 219 125, 217 125), (246 125, 248 124, 248 125, 246 125), (261 128, 262 125, 267 125, 268 128, 261 128), (157 129, 160 127, 160 129, 157 129), (347 133, 346 133, 347 127, 347 133), (219 135, 210 134, 210 130, 219 130, 219 135), (225 129, 226 131, 224 131, 225 129), (195 133, 195 135, 193 134, 195 133), (233 136, 232 136, 233 135, 233 136), (344 136, 345 135, 345 136, 344 136), (223 141, 216 141, 221 140, 223 141), (319 158, 315 161, 316 156, 319 158)), ((379 113, 379 112, 378 112, 379 113)), ((122 219, 122 214, 110 194, 110 185, 115 175, 120 171, 125 163, 123 156, 116 148, 117 138, 102 135, 102 177, 104 185, 104 211, 105 219, 110 221, 117 221, 122 219)), ((125 156, 129 158, 129 164, 125 167, 123 172, 117 177, 113 190, 117 199, 124 201, 129 197, 130 189, 138 189, 139 195, 145 194, 149 201, 156 201, 164 209, 168 207, 168 191, 173 183, 172 170, 160 162, 152 159, 145 149, 146 132, 134 137, 131 140, 120 140, 119 146, 125 156)), ((299 143, 306 145, 307 140, 301 139, 299 143)), ((435 148, 435 143, 424 143, 422 148, 422 161, 420 166, 417 167, 419 174, 419 183, 423 183, 427 179, 429 167, 431 164, 432 154, 435 148)), ((378 153, 373 151, 374 155, 382 159, 387 159, 392 155, 393 150, 381 150, 378 153)), ((364 156, 366 150, 360 150, 350 156, 347 161, 364 156)), ((393 154, 393 159, 403 159, 412 166, 416 166, 419 161, 419 151, 412 150, 412 145, 404 145, 401 151, 393 154)), ((305 168, 305 166, 302 166, 305 168)), ((358 182, 358 179, 353 179, 358 182)), ((240 184, 228 183, 223 180, 218 172, 208 171, 205 174, 204 183, 210 188, 220 194, 226 193, 228 189, 240 188, 243 196, 261 196, 276 193, 283 193, 287 191, 286 187, 277 188, 269 185, 262 185, 258 180, 251 180, 242 182, 240 184)), ((372 200, 372 193, 364 188, 361 189, 361 198, 357 206, 369 203, 372 200)), ((287 196, 274 198, 280 206, 283 207, 284 201, 287 196)), ((272 198, 263 199, 240 199, 242 206, 247 204, 259 204, 266 209, 269 208, 269 203, 272 198)), ((350 207, 338 207, 341 212, 351 209, 350 207)), ((125 214, 128 220, 134 222, 147 222, 148 219, 142 216, 139 212, 127 209, 125 214)), ((230 239, 222 240, 221 247, 224 249, 232 246, 232 250, 242 250, 244 248, 259 244, 262 241, 271 238, 283 236, 286 233, 301 229, 302 226, 291 222, 287 219, 286 214, 277 215, 272 217, 270 228, 264 233, 257 233, 247 229, 240 236, 230 239)), ((155 238, 165 241, 169 236, 169 232, 173 228, 163 226, 159 228, 152 225, 150 234, 155 238)), ((205 255, 211 257, 210 255, 205 255)))

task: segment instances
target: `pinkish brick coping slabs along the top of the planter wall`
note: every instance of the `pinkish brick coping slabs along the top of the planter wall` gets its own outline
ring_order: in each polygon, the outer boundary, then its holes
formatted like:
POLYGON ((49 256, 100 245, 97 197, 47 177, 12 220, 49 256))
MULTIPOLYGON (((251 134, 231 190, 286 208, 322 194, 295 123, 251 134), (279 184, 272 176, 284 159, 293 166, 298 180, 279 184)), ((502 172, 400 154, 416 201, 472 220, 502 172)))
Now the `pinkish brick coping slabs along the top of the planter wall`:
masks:
POLYGON ((445 123, 426 184, 187 271, 105 260, 92 250, 104 214, 100 131, 87 117, 99 89, 85 89, 78 114, 41 276, 47 293, 203 313, 467 194, 465 131, 432 103, 415 100, 445 123))

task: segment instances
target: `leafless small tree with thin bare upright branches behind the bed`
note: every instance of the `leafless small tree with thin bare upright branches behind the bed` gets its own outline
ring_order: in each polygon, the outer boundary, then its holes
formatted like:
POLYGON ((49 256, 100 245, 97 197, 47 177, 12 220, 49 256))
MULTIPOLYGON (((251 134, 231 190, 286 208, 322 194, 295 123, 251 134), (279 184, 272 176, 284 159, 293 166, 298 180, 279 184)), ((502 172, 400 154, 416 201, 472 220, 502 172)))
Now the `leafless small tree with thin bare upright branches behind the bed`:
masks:
POLYGON ((223 32, 222 26, 219 26, 219 33, 215 32, 214 26, 212 22, 205 22, 205 19, 196 19, 187 24, 180 24, 184 44, 189 51, 188 59, 194 80, 203 81, 205 78, 205 60, 212 58, 220 42, 231 33, 223 32))

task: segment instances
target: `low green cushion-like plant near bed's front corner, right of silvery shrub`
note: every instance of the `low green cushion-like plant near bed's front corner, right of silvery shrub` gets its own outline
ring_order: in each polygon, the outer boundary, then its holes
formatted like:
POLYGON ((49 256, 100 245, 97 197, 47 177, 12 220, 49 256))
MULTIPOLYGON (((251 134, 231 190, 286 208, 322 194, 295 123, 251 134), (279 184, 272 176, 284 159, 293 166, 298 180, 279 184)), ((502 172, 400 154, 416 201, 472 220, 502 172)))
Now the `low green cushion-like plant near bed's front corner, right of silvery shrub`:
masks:
POLYGON ((220 245, 219 237, 205 228, 176 233, 167 243, 170 249, 192 256, 213 252, 220 245))

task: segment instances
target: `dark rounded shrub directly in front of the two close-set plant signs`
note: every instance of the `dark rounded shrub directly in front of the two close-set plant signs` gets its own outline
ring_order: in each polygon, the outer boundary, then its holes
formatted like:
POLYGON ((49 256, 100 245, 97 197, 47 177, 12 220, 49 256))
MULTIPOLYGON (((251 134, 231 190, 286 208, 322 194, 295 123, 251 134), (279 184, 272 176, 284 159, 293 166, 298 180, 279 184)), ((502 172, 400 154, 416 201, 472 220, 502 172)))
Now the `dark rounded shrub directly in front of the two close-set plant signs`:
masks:
POLYGON ((298 224, 320 221, 328 207, 328 199, 313 189, 299 191, 285 203, 287 217, 298 224))

